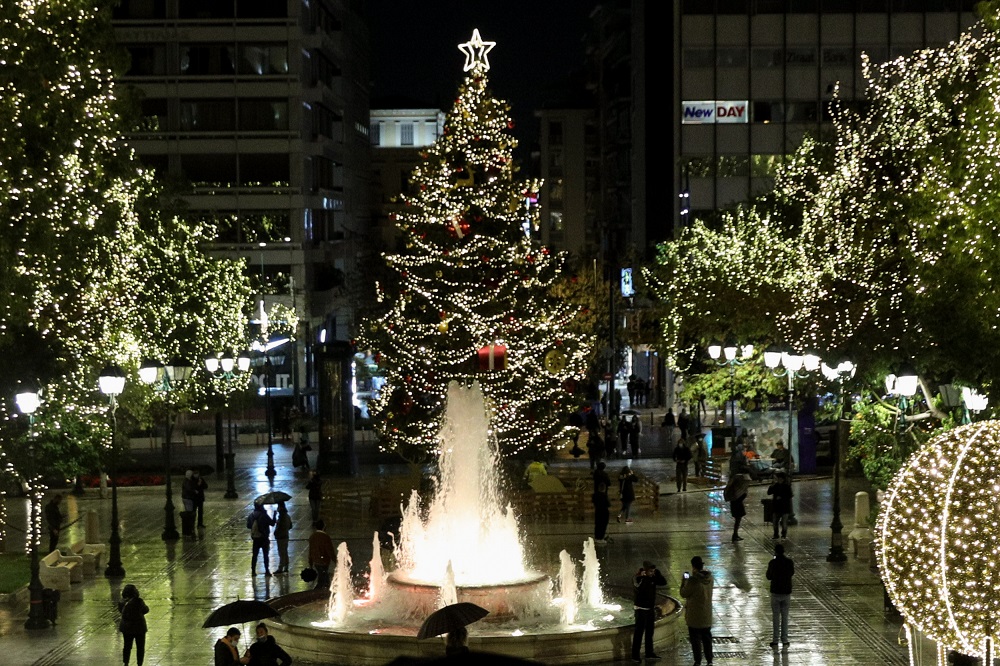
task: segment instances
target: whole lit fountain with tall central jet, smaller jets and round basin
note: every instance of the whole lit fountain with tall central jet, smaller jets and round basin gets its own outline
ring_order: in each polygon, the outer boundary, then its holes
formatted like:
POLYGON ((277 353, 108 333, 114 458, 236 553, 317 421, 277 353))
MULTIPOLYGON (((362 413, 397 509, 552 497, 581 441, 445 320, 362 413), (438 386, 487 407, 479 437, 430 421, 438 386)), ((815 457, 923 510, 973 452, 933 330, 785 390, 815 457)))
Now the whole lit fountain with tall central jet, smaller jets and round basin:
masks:
MULTIPOLYGON (((631 600, 605 601, 593 539, 584 542, 582 584, 566 550, 555 582, 529 566, 517 519, 501 500, 500 458, 478 384, 449 386, 440 441, 432 497, 422 503, 413 491, 401 507, 396 569, 385 573, 376 533, 368 591, 356 595, 351 557, 341 543, 328 599, 301 592, 271 600, 281 612, 271 632, 282 646, 293 657, 324 663, 439 656, 439 641, 416 640, 421 622, 442 605, 470 601, 490 611, 469 627, 473 650, 547 664, 627 656, 631 600)), ((660 645, 677 637, 679 604, 669 597, 664 602, 665 617, 654 632, 660 645)))

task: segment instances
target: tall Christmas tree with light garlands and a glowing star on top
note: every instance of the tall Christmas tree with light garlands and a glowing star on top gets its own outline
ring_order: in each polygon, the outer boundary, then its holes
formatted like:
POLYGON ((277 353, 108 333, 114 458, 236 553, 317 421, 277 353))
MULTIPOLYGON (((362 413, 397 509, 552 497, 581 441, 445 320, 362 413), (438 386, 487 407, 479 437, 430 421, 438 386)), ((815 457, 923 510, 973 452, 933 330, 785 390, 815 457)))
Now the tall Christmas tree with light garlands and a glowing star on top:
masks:
POLYGON ((381 445, 405 457, 438 446, 452 380, 480 382, 503 451, 552 447, 590 351, 564 330, 576 308, 550 292, 564 257, 531 237, 541 183, 515 179, 509 107, 487 89, 493 46, 476 30, 459 47, 468 74, 396 217, 387 312, 362 331, 387 379, 371 404, 381 445))

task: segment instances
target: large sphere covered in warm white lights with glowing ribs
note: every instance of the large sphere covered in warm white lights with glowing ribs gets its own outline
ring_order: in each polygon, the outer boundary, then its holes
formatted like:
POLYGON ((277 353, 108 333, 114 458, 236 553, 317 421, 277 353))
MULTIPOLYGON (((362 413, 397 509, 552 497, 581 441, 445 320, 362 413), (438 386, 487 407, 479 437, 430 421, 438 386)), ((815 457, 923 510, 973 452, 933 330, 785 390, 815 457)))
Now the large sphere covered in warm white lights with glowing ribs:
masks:
POLYGON ((896 608, 945 649, 972 656, 1000 634, 998 451, 1000 421, 935 437, 893 479, 878 521, 878 565, 896 608))

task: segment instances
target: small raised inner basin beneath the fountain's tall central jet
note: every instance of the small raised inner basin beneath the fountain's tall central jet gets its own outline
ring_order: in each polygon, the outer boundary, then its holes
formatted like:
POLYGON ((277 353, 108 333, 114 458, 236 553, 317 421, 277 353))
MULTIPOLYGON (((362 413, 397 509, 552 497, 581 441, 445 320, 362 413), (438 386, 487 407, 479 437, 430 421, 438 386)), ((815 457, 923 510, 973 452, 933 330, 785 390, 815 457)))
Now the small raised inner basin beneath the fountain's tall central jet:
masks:
MULTIPOLYGON (((387 579, 389 589, 413 609, 414 617, 427 617, 438 608, 441 587, 437 584, 408 580, 393 572, 387 579)), ((485 608, 491 619, 520 617, 541 608, 549 601, 549 577, 532 572, 522 581, 501 585, 456 585, 459 601, 468 601, 485 608)))

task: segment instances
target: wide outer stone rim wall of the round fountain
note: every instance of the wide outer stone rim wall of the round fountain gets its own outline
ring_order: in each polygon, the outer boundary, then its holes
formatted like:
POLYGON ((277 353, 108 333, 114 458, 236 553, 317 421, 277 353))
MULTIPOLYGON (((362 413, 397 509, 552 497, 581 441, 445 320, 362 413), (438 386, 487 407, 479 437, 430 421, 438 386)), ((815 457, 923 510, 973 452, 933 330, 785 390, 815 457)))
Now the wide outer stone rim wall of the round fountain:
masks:
MULTIPOLYGON (((298 592, 270 599, 279 613, 308 605, 322 604, 325 592, 298 592)), ((657 650, 666 650, 686 636, 681 618, 681 605, 672 598, 660 595, 659 606, 663 615, 653 628, 653 644, 657 650)), ((478 622, 469 627, 469 647, 476 652, 492 652, 543 664, 606 664, 627 660, 631 655, 633 623, 631 610, 622 611, 621 624, 592 631, 564 630, 544 627, 521 636, 497 635, 488 630, 489 625, 478 622), (625 621, 625 618, 628 621, 625 621)), ((417 640, 416 626, 403 626, 377 633, 368 630, 340 631, 312 626, 308 623, 291 623, 283 618, 267 621, 270 633, 294 658, 325 664, 358 664, 384 666, 396 657, 434 658, 444 656, 441 639, 417 640), (397 633, 398 632, 398 633, 397 633)))

